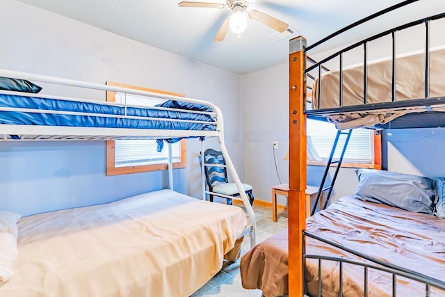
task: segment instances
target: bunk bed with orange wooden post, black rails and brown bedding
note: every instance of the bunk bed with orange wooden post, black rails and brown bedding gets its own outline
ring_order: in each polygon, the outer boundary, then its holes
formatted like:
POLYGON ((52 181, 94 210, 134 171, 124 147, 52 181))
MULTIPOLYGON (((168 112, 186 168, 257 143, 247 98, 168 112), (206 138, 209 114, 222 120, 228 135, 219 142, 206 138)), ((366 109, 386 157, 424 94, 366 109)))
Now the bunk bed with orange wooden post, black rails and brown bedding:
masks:
POLYGON ((439 75, 445 59, 442 48, 430 49, 429 28, 430 22, 444 18, 445 13, 360 40, 320 62, 307 57, 307 52, 323 42, 416 1, 403 1, 365 17, 309 47, 302 37, 290 41, 289 230, 259 243, 242 257, 241 278, 246 289, 262 289, 266 297, 445 295, 443 178, 357 170, 355 195, 340 198, 310 218, 305 213, 306 118, 327 120, 339 129, 444 126, 445 90, 439 75), (396 32, 419 24, 425 26, 426 40, 421 67, 408 73, 401 84, 396 69, 399 64, 410 67, 406 63, 410 60, 419 63, 419 52, 397 56, 396 32), (368 43, 387 35, 392 38, 391 57, 368 61, 368 43), (342 55, 356 47, 363 48, 364 63, 343 67, 342 55), (332 58, 339 59, 339 69, 325 72, 324 64, 332 58), (413 75, 423 79, 413 79, 413 75), (416 92, 405 93, 410 88, 417 88, 416 92), (309 93, 312 110, 307 109, 309 93), (418 193, 410 195, 413 188, 418 193), (396 193, 404 197, 395 198, 396 193), (419 195, 425 200, 419 200, 419 195), (414 198, 416 202, 407 206, 407 200, 414 198))

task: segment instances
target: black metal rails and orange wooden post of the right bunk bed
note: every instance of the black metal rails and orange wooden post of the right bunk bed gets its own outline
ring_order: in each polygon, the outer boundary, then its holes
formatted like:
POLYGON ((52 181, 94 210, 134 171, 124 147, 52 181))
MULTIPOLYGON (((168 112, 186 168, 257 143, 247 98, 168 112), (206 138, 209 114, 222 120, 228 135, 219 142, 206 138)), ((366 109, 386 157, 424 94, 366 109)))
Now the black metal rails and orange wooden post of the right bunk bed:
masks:
MULTIPOLYGON (((387 264, 385 262, 380 262, 378 259, 373 259, 371 257, 367 257, 366 255, 359 254, 354 250, 350 250, 345 246, 338 245, 336 243, 331 243, 330 241, 326 241, 314 234, 309 234, 305 232, 305 218, 306 218, 306 209, 305 209, 305 188, 306 188, 306 177, 307 177, 307 150, 306 150, 306 118, 325 118, 329 115, 344 113, 347 111, 371 111, 377 109, 388 109, 388 108, 403 108, 405 106, 430 106, 432 104, 444 104, 445 98, 430 98, 429 91, 429 69, 430 69, 430 59, 429 59, 429 49, 430 49, 430 26, 429 23, 431 20, 441 19, 445 17, 445 13, 441 13, 438 15, 434 15, 432 17, 426 17, 423 19, 419 19, 414 22, 410 22, 409 24, 405 24, 403 26, 398 26, 394 29, 379 33, 374 35, 371 38, 367 38, 365 40, 361 40, 354 45, 350 45, 341 51, 337 51, 337 53, 332 54, 331 56, 323 59, 318 63, 314 63, 311 58, 307 57, 307 51, 310 49, 314 49, 314 47, 323 44, 323 42, 334 38, 335 36, 348 31, 349 29, 358 26, 359 24, 363 24, 364 22, 368 22, 375 17, 388 13, 390 11, 396 10, 403 6, 407 6, 410 3, 414 3, 419 0, 408 0, 398 3, 394 6, 386 8, 385 10, 380 10, 378 13, 374 13, 369 17, 365 17, 364 19, 360 19, 359 21, 346 26, 345 28, 328 35, 326 38, 314 43, 314 45, 307 47, 306 40, 302 36, 298 38, 294 38, 290 40, 289 43, 289 296, 303 296, 305 294, 305 259, 316 258, 319 263, 321 263, 321 259, 328 259, 327 257, 320 257, 316 255, 305 255, 305 236, 309 236, 313 239, 317 239, 319 241, 323 241, 325 243, 332 244, 332 246, 336 246, 337 248, 341 248, 342 250, 346 250, 347 252, 351 252, 354 255, 362 257, 363 259, 368 259, 371 262, 375 263, 369 266, 368 264, 363 264, 362 262, 357 263, 359 265, 364 266, 365 273, 365 287, 367 284, 367 269, 369 267, 378 268, 382 271, 387 271, 392 274, 392 282, 393 282, 393 296, 396 296, 396 275, 401 275, 403 277, 411 278, 412 280, 416 280, 417 282, 421 282, 425 284, 425 294, 426 296, 430 296, 430 288, 436 287, 438 289, 445 290, 445 282, 435 280, 433 278, 428 278, 425 275, 421 275, 419 273, 415 273, 414 271, 409 271, 405 268, 401 268, 398 266, 393 266, 391 264, 387 264), (396 101, 396 31, 400 31, 403 29, 407 29, 411 26, 425 24, 425 32, 426 32, 426 42, 425 42, 425 51, 426 51, 426 63, 425 63, 425 99, 416 99, 409 100, 404 102, 396 101), (392 102, 385 104, 366 104, 367 100, 367 71, 366 71, 366 63, 367 63, 367 44, 371 40, 375 40, 385 35, 391 35, 392 38, 392 102), (345 51, 353 49, 355 47, 363 46, 364 49, 364 102, 359 106, 342 106, 342 75, 341 75, 341 67, 342 65, 342 54, 345 51), (313 77, 309 74, 310 70, 316 69, 318 67, 318 77, 320 77, 319 83, 319 92, 318 92, 318 106, 321 106, 322 102, 320 102, 320 94, 321 94, 321 71, 324 68, 323 63, 330 61, 334 57, 339 57, 339 69, 340 69, 340 83, 339 83, 339 107, 334 109, 318 109, 318 110, 306 110, 306 93, 307 93, 307 77, 313 77), (307 61, 314 63, 314 65, 307 67, 307 61)), ((310 88, 309 88, 310 89, 310 88)), ((427 109, 428 110, 428 109, 427 109)), ((432 112, 427 112, 426 114, 431 114, 432 112)), ((444 113, 434 113, 435 115, 441 115, 441 120, 437 120, 437 118, 431 121, 430 125, 434 125, 437 127, 437 122, 444 124, 445 120, 443 115, 444 113)), ((403 118, 410 118, 410 114, 404 115, 401 119, 393 120, 393 122, 401 122, 403 118)), ((423 116, 423 115, 421 115, 423 116)), ((415 118, 415 117, 414 117, 415 118)), ((389 123, 391 124, 391 123, 389 123)), ((394 128, 391 125, 378 125, 376 129, 387 129, 394 128)), ((395 127, 414 127, 413 121, 408 120, 407 125, 398 124, 395 127)), ((419 126, 416 126, 419 127, 419 126)), ((421 127, 425 127, 423 124, 421 127)), ((428 126, 432 127, 432 126, 428 126)), ((328 165, 329 166, 329 165, 328 165)), ((333 184, 332 184, 333 186, 333 184)), ((323 190, 323 185, 320 186, 320 191, 323 190)), ((320 193, 318 193, 318 196, 320 193)), ((314 207, 315 209, 315 207, 314 207)), ((314 213, 314 209, 312 209, 312 213, 314 213)), ((338 261, 340 265, 340 275, 342 274, 341 266, 345 262, 349 262, 349 260, 344 258, 334 258, 329 257, 329 260, 338 261)), ((320 264, 321 265, 321 264, 320 264)), ((320 269, 319 269, 320 271, 320 269)), ((341 277, 340 280, 340 288, 341 288, 341 277)), ((321 286, 321 278, 319 278, 318 286, 321 286)), ((318 290, 319 296, 321 296, 321 289, 318 290)), ((341 292, 341 290, 340 290, 341 292)), ((366 290, 365 290, 365 296, 366 290)))

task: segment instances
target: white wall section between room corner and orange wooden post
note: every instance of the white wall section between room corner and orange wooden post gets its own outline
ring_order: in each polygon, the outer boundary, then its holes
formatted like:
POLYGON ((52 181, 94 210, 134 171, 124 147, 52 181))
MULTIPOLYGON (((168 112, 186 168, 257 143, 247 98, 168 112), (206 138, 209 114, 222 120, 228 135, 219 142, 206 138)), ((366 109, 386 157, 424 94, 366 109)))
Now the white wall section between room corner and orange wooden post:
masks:
POLYGON ((270 186, 289 180, 289 164, 283 160, 289 147, 288 85, 287 65, 242 77, 243 177, 252 184, 255 199, 270 201, 270 186), (273 141, 278 141, 277 150, 273 141))

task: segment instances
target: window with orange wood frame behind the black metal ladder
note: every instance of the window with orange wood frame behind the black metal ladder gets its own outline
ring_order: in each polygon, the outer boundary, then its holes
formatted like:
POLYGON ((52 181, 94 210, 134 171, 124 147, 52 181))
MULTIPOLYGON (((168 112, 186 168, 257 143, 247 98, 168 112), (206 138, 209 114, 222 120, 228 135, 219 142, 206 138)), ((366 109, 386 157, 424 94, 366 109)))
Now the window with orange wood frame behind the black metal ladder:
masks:
MULTIPOLYGON (((308 165, 325 166, 329 159, 337 129, 330 122, 307 120, 308 165)), ((341 136, 334 153, 338 159, 346 137, 341 136)), ((343 156, 343 167, 381 168, 380 134, 372 129, 353 129, 343 156)))

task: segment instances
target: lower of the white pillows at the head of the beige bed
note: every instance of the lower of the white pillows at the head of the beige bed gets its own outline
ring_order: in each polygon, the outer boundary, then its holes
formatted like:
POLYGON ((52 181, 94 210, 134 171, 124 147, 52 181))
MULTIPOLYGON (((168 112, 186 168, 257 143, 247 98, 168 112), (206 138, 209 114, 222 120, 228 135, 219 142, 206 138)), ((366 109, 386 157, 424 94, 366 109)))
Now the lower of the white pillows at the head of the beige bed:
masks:
POLYGON ((13 277, 17 255, 17 237, 8 232, 0 232, 0 286, 13 277))

